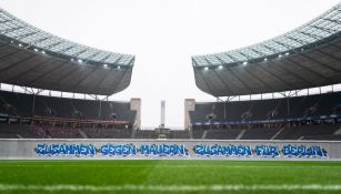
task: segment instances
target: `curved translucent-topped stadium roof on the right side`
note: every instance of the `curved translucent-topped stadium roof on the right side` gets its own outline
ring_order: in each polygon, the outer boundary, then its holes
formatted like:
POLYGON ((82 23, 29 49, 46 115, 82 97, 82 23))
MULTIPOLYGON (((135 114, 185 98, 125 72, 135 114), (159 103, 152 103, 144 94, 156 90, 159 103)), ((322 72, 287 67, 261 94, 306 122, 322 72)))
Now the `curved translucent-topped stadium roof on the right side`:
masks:
POLYGON ((341 3, 277 38, 192 57, 195 83, 214 96, 300 90, 341 82, 341 3))

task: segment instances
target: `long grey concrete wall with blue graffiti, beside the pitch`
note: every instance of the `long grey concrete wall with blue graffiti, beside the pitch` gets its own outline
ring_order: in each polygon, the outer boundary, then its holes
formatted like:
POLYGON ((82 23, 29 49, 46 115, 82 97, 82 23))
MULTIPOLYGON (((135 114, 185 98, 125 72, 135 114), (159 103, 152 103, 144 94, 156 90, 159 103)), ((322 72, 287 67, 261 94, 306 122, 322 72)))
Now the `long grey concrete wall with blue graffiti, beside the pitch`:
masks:
POLYGON ((341 160, 341 142, 0 139, 1 160, 341 160))

